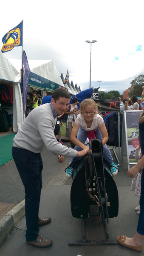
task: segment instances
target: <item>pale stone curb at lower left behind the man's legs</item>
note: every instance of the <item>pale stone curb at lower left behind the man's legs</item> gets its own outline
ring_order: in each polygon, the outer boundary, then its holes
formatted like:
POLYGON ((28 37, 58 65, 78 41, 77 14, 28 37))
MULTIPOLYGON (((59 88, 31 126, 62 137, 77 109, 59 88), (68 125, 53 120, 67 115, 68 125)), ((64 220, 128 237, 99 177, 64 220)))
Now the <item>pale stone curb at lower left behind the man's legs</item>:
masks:
POLYGON ((13 207, 0 219, 0 247, 4 244, 8 236, 14 230, 14 227, 24 216, 25 200, 13 207))

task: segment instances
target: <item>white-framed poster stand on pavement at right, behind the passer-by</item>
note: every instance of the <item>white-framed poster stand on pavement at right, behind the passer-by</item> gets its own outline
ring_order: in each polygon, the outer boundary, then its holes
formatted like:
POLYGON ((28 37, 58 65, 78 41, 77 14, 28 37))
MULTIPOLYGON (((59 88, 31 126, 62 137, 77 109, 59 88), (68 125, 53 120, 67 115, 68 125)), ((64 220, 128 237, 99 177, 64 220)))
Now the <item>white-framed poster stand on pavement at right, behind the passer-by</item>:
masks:
POLYGON ((136 146, 139 145, 138 135, 138 120, 142 110, 124 111, 122 124, 122 142, 121 142, 121 163, 122 157, 127 156, 128 170, 130 165, 135 165, 136 146))

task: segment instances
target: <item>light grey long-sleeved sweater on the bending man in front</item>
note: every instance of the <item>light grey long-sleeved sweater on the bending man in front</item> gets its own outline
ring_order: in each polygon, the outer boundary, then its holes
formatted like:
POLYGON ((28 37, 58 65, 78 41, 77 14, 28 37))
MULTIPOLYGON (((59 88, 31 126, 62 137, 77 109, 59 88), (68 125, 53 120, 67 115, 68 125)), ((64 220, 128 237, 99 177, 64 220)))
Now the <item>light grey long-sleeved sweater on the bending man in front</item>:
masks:
POLYGON ((65 147, 56 140, 52 109, 49 103, 33 109, 26 117, 14 137, 14 147, 24 148, 34 153, 42 152, 46 146, 48 151, 62 156, 76 157, 77 151, 65 147))

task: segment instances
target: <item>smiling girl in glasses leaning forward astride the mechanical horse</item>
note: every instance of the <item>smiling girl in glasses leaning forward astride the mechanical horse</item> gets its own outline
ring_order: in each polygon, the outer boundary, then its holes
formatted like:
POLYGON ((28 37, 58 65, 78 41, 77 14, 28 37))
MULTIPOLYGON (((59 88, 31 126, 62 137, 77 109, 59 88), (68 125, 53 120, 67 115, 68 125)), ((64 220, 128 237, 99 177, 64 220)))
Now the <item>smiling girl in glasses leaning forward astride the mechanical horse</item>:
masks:
MULTIPOLYGON (((82 101, 80 114, 77 116, 71 131, 71 141, 76 145, 75 149, 80 151, 81 148, 87 148, 86 141, 89 143, 94 138, 102 140, 104 157, 111 165, 110 175, 115 176, 118 173, 118 169, 113 163, 113 157, 106 145, 108 141, 107 129, 102 116, 96 109, 97 105, 93 99, 84 99, 82 101)), ((72 168, 69 167, 66 176, 71 178, 72 172, 72 168)))

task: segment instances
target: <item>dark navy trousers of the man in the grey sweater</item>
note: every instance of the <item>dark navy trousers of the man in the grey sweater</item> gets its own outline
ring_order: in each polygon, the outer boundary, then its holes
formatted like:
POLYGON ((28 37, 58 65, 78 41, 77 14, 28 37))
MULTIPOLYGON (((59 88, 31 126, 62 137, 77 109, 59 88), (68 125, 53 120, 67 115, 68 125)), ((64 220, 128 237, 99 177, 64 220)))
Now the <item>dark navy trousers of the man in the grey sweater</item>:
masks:
POLYGON ((36 241, 42 189, 42 158, 23 148, 12 147, 12 156, 25 187, 26 241, 36 241))

